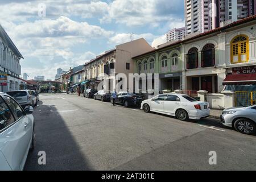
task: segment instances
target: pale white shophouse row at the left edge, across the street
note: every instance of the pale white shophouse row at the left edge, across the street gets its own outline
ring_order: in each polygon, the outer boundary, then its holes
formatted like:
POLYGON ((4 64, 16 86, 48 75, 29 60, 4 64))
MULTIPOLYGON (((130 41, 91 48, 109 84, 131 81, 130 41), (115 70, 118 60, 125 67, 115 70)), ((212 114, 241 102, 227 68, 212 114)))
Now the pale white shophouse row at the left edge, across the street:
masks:
POLYGON ((18 90, 21 74, 20 59, 24 59, 18 48, 0 25, 0 91, 18 90))

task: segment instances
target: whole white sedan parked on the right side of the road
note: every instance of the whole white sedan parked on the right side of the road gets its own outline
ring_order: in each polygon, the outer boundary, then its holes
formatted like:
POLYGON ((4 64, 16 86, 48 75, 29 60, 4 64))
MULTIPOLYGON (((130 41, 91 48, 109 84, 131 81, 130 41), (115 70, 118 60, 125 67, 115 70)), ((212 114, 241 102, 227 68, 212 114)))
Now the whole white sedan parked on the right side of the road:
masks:
POLYGON ((175 116, 185 121, 187 119, 201 119, 209 117, 210 109, 208 102, 197 101, 185 94, 160 94, 151 99, 142 101, 141 109, 146 113, 156 113, 175 116))

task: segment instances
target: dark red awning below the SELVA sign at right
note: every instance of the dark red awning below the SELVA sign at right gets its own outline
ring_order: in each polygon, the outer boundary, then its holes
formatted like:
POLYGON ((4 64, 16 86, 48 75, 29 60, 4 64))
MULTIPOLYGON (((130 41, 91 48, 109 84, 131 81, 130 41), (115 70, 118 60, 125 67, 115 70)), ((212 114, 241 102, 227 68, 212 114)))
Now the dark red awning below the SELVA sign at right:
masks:
POLYGON ((256 84, 256 73, 227 75, 223 85, 247 85, 256 84))

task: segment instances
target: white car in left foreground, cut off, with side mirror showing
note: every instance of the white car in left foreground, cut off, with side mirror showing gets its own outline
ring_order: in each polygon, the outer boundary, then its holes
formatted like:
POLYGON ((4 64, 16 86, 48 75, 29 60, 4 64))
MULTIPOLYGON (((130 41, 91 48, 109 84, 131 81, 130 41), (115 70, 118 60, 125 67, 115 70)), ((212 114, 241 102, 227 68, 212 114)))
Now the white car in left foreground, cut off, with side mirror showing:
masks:
POLYGON ((35 145, 32 106, 23 109, 13 97, 0 93, 0 171, 22 170, 35 145))

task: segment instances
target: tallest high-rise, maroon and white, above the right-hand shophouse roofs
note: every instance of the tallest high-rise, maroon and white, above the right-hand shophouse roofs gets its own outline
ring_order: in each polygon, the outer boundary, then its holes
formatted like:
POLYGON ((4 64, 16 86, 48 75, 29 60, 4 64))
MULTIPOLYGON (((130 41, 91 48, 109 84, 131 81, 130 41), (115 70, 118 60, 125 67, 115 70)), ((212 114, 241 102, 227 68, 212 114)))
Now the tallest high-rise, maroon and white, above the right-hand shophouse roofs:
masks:
POLYGON ((256 14, 256 0, 185 0, 185 34, 205 32, 256 14))

